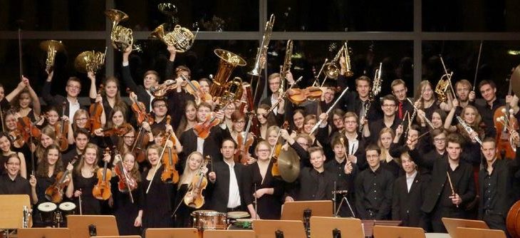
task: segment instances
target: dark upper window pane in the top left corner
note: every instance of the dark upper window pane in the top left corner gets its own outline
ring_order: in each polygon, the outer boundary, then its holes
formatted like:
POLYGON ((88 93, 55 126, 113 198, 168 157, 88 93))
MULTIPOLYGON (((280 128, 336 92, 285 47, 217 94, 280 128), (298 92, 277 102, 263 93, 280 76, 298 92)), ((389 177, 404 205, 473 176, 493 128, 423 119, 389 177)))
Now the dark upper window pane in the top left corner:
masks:
POLYGON ((0 0, 0 31, 104 31, 105 1, 0 0))

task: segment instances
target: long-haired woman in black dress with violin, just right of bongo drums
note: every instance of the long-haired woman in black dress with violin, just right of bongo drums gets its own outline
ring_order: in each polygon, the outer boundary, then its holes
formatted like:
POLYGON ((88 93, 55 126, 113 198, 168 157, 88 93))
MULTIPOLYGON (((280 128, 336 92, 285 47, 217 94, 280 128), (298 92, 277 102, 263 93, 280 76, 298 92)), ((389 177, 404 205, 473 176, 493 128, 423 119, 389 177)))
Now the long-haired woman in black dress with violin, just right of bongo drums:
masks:
MULTIPOLYGON (((97 145, 88 143, 83 157, 80 158, 78 166, 73 172, 76 207, 81 207, 83 214, 101 213, 100 200, 93 196, 93 188, 98 184, 98 177, 95 175, 100 169, 98 167, 98 150, 97 145)), ((109 153, 104 155, 103 161, 110 162, 109 153)))

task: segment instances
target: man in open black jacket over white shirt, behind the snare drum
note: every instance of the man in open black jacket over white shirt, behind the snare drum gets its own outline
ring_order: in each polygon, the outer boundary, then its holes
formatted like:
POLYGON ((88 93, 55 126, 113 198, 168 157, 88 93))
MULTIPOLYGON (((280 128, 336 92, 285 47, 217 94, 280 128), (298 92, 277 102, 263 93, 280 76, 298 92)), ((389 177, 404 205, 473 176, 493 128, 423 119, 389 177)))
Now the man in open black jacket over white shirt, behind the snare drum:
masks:
POLYGON ((212 194, 208 209, 217 212, 246 211, 244 202, 245 165, 234 162, 236 144, 233 139, 222 141, 223 161, 213 159, 213 171, 208 174, 208 193, 212 194))

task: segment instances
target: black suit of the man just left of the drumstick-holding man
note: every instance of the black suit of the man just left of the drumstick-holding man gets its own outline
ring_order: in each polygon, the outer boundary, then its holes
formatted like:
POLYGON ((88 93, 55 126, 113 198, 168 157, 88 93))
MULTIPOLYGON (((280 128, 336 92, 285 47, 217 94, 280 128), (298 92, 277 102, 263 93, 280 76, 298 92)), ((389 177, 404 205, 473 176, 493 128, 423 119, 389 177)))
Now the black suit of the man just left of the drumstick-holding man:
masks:
POLYGON ((426 214, 420 207, 425 200, 425 193, 430 182, 429 175, 417 172, 408 192, 406 175, 394 182, 392 195, 392 219, 401 220, 404 227, 422 227, 427 229, 426 214))

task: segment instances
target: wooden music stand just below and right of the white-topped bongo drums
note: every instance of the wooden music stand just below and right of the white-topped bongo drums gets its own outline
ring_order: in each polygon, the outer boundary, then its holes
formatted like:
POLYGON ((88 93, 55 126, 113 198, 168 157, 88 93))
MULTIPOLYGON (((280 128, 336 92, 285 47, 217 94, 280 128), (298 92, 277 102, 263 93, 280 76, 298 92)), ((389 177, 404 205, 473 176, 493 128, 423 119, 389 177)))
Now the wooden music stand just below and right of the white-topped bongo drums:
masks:
POLYGON ((101 236, 118 236, 118 224, 115 222, 114 216, 102 215, 68 215, 67 227, 71 229, 71 235, 74 238, 90 238, 90 226, 95 227, 95 235, 101 236))

